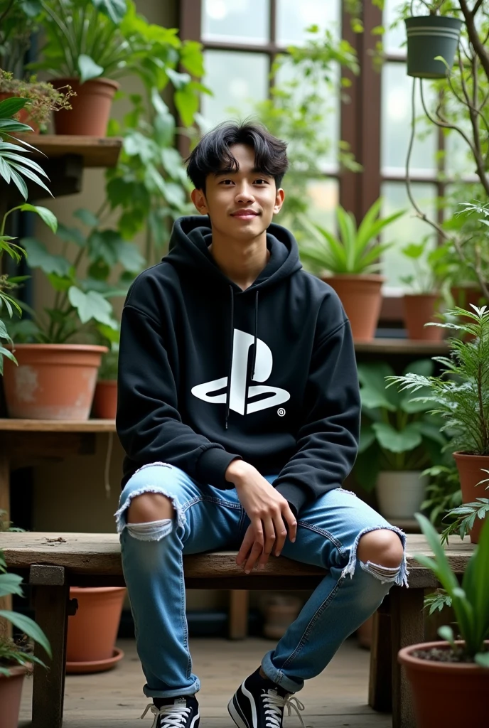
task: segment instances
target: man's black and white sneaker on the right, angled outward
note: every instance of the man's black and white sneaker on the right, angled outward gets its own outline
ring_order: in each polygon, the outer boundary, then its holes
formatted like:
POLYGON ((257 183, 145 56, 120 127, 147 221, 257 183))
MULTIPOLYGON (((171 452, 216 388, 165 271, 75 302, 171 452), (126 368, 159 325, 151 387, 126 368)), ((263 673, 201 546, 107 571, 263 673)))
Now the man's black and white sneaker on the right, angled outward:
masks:
POLYGON ((285 708, 289 716, 295 710, 304 728, 301 701, 268 678, 262 678, 260 668, 246 678, 228 703, 229 715, 238 728, 282 728, 285 708))

